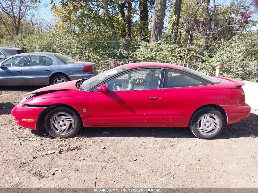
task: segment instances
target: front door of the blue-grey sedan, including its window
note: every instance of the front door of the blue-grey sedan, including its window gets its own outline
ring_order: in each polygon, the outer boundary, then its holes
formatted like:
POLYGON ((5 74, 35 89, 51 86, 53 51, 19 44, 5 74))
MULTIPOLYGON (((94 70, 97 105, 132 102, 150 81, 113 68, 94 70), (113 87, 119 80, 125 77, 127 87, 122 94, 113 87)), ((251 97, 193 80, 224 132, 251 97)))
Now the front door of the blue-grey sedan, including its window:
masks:
POLYGON ((26 84, 24 69, 27 55, 15 56, 2 62, 0 85, 26 84))

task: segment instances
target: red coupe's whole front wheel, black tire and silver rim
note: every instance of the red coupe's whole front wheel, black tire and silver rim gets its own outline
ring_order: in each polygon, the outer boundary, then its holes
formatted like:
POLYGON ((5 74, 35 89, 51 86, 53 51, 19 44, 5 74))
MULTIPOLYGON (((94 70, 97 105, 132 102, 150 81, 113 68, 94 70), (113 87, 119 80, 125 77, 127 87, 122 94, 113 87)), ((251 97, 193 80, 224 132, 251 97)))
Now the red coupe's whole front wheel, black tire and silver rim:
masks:
POLYGON ((45 128, 55 138, 69 138, 78 133, 82 123, 78 113, 69 107, 51 109, 45 117, 45 128))

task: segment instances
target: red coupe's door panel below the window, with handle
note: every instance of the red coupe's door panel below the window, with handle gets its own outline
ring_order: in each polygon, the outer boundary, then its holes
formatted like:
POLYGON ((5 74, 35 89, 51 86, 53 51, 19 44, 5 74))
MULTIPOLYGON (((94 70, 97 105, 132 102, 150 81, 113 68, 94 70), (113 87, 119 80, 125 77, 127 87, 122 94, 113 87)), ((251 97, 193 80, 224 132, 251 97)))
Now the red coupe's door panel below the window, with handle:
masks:
POLYGON ((93 91, 89 101, 92 125, 162 125, 162 89, 93 91))

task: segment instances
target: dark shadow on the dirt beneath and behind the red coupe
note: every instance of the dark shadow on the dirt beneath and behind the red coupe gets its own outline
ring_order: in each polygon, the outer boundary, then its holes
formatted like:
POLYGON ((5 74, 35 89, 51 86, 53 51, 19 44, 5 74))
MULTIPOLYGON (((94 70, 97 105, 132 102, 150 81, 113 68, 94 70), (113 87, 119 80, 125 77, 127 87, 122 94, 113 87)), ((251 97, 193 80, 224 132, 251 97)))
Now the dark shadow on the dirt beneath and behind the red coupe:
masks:
MULTIPOLYGON (((250 116, 235 124, 226 125, 222 133, 215 138, 242 138, 250 137, 250 134, 258 134, 256 122, 258 115, 251 113, 250 116)), ((45 130, 31 132, 40 137, 47 137, 45 130)), ((169 127, 89 127, 82 128, 77 136, 94 138, 94 137, 154 137, 154 138, 196 138, 189 128, 169 128, 169 127)))

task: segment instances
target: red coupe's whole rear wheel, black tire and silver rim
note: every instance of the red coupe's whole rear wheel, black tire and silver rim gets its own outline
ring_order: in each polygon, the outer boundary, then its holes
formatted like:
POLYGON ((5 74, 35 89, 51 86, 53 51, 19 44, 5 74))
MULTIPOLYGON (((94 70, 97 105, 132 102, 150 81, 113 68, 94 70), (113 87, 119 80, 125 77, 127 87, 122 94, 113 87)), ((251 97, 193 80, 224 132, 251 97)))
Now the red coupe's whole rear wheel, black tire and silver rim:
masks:
POLYGON ((212 139, 223 130, 223 115, 213 107, 202 107, 194 112, 189 127, 192 133, 200 139, 212 139))

